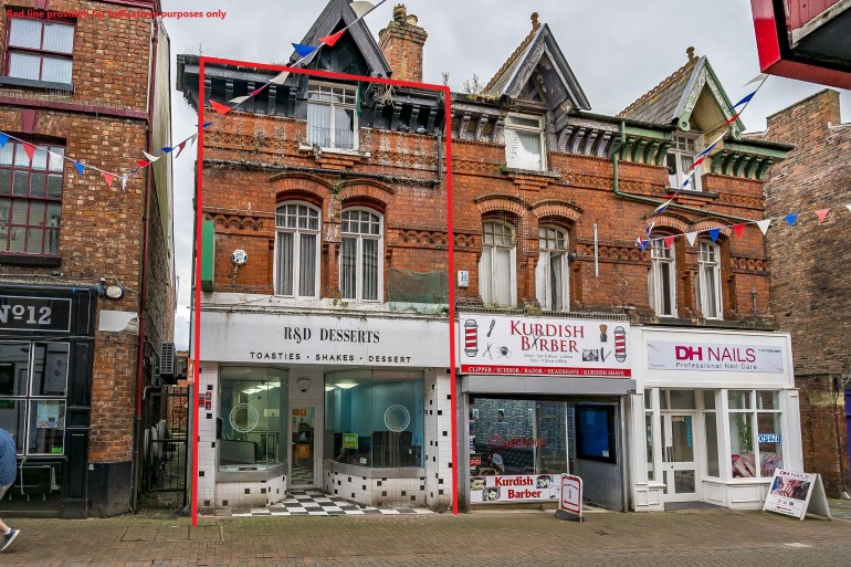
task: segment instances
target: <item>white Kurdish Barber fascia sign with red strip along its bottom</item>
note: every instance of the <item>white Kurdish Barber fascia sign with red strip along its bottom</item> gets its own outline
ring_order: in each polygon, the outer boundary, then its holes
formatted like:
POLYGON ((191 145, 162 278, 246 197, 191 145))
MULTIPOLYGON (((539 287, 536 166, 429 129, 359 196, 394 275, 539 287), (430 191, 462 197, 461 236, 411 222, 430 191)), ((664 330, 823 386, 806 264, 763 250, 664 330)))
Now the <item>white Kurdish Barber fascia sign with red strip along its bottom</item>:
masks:
POLYGON ((629 323, 461 314, 463 374, 628 378, 629 323))

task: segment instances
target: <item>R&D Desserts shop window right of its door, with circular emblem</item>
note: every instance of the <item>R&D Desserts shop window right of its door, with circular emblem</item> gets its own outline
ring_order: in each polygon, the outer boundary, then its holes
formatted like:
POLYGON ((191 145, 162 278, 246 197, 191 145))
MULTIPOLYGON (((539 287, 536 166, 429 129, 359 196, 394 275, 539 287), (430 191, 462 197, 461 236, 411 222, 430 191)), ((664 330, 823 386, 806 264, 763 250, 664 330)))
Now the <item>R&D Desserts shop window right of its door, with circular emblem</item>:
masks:
POLYGON ((325 375, 325 458, 376 469, 422 466, 422 372, 325 375))

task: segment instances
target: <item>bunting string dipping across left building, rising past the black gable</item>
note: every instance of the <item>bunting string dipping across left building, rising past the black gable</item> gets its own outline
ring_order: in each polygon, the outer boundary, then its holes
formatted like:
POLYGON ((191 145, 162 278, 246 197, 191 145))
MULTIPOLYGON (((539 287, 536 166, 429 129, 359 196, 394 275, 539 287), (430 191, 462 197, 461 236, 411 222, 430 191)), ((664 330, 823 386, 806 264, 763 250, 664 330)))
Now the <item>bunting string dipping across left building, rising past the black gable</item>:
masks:
MULTIPOLYGON (((319 41, 321 41, 319 45, 313 46, 313 45, 304 45, 304 44, 301 44, 301 43, 293 43, 292 45, 293 45, 293 48, 295 49, 295 52, 298 54, 298 56, 301 59, 298 59, 298 61, 293 63, 291 66, 292 67, 297 67, 298 65, 302 65, 302 64, 306 63, 311 57, 313 57, 316 53, 318 53, 318 51, 323 46, 325 46, 325 45, 328 45, 329 48, 333 48, 337 43, 337 41, 339 41, 339 39, 346 33, 346 31, 349 28, 351 28, 353 25, 358 23, 369 12, 371 12, 375 9, 377 9, 378 7, 380 7, 387 0, 381 0, 380 2, 378 2, 376 4, 372 4, 371 2, 366 2, 366 1, 351 2, 349 4, 349 7, 355 12, 355 15, 357 18, 350 24, 348 24, 345 28, 343 28, 342 30, 333 33, 332 35, 326 35, 324 38, 319 38, 319 41)), ((260 86, 259 88, 255 88, 254 91, 252 91, 251 93, 249 93, 245 96, 238 96, 235 98, 231 98, 228 102, 228 104, 219 103, 219 102, 216 102, 216 101, 211 99, 210 101, 210 106, 212 106, 213 111, 216 111, 219 116, 224 116, 229 112, 231 112, 234 108, 237 108, 238 106, 240 106, 245 101, 249 101, 253 96, 256 96, 258 94, 262 93, 270 85, 272 85, 272 84, 275 84, 275 85, 284 84, 284 81, 286 81, 286 78, 288 76, 290 76, 290 72, 288 71, 284 71, 282 73, 277 74, 276 76, 274 76, 273 78, 271 78, 264 85, 260 86)), ((201 127, 206 129, 206 128, 210 127, 214 122, 216 122, 216 119, 210 120, 210 122, 204 122, 201 127)), ((6 132, 0 132, 0 148, 4 148, 7 143, 10 139, 21 144, 21 146, 23 147, 23 150, 27 153, 27 156, 30 158, 30 161, 32 161, 32 158, 35 155, 36 150, 43 150, 43 151, 46 151, 50 156, 52 156, 52 157, 54 157, 56 159, 62 159, 62 160, 65 160, 65 161, 71 161, 74 165, 74 168, 76 169, 77 175, 80 175, 80 176, 82 176, 87 169, 92 169, 94 171, 99 172, 101 177, 103 177, 104 181, 106 182, 106 186, 109 189, 113 188, 113 181, 115 181, 115 179, 120 179, 120 181, 122 181, 122 191, 127 192, 127 180, 133 175, 135 175, 138 171, 145 169, 146 167, 148 167, 151 164, 156 162, 158 159, 160 159, 161 157, 164 157, 166 155, 175 154, 175 156, 174 156, 175 159, 179 158, 180 154, 183 153, 183 149, 186 149, 187 145, 189 145, 189 147, 192 147, 195 145, 196 140, 198 139, 198 133, 197 132, 192 133, 191 136, 188 136, 186 139, 183 139, 183 141, 181 141, 180 144, 178 144, 176 146, 165 146, 165 147, 160 148, 161 154, 159 154, 159 155, 153 155, 153 154, 148 154, 145 150, 141 150, 141 154, 143 154, 143 156, 145 156, 145 159, 136 160, 137 167, 135 167, 135 168, 133 168, 133 169, 130 169, 130 170, 128 170, 128 171, 126 171, 124 174, 116 174, 114 171, 107 171, 105 169, 101 169, 98 167, 95 167, 95 166, 92 166, 92 165, 88 165, 88 164, 84 164, 83 161, 81 161, 78 159, 73 159, 73 158, 67 157, 65 155, 56 154, 55 151, 51 151, 50 149, 48 149, 48 148, 45 148, 43 146, 38 146, 35 144, 31 144, 31 143, 27 141, 27 140, 18 138, 18 137, 15 137, 15 136, 13 136, 11 134, 8 134, 6 132)))

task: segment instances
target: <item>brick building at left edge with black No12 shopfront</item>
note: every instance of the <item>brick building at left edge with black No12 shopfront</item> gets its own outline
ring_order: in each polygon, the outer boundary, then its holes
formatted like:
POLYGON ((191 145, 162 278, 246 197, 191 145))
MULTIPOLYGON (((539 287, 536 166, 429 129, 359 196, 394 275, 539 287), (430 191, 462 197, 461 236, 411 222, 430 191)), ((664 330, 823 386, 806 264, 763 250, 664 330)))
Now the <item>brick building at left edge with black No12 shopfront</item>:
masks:
POLYGON ((123 513, 143 390, 172 337, 171 169, 109 188, 95 168, 123 175, 170 145, 169 39, 155 18, 109 13, 157 1, 2 8, 0 296, 40 316, 2 317, 0 427, 21 469, 0 515, 123 513))

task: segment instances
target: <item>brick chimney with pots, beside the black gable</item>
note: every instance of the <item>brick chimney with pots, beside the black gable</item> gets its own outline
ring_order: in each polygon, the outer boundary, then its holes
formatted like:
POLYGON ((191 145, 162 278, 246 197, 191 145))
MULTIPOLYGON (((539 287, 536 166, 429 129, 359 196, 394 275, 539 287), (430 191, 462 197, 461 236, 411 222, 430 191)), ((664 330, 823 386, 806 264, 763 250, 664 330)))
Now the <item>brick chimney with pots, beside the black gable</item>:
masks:
POLYGON ((393 78, 422 83, 422 45, 429 34, 417 25, 417 17, 405 4, 393 8, 393 19, 378 32, 378 46, 393 72, 393 78))

